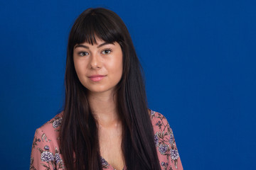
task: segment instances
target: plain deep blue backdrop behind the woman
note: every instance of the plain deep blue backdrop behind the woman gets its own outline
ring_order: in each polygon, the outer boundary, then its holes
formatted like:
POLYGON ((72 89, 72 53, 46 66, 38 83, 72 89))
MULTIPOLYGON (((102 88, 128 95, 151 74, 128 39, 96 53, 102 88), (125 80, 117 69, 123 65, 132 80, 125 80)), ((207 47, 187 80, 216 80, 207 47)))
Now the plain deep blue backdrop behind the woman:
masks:
POLYGON ((88 7, 115 11, 169 120, 184 169, 256 169, 256 10, 250 0, 0 2, 0 169, 28 169, 61 111, 65 50, 88 7))

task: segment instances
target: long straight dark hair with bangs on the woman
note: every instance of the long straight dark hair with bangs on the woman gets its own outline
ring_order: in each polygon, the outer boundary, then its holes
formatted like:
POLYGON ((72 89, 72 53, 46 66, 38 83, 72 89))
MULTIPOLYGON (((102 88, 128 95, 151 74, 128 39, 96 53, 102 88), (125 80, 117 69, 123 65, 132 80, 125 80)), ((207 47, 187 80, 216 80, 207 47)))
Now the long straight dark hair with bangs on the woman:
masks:
POLYGON ((117 84, 117 111, 122 119, 122 152, 127 169, 160 169, 154 132, 147 108, 142 67, 127 27, 106 8, 88 8, 71 28, 65 69, 65 106, 60 149, 67 169, 102 169, 97 121, 87 100, 87 89, 75 72, 73 48, 95 38, 118 42, 123 74, 117 84))

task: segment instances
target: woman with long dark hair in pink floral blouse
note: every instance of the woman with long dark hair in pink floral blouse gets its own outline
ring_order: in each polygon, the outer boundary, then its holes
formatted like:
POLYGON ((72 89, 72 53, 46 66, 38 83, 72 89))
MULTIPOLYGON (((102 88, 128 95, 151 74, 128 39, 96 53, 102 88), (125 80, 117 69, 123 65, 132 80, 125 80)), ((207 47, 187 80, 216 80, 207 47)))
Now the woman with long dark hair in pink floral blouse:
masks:
POLYGON ((174 135, 147 108, 141 66, 123 21, 88 8, 70 31, 65 107, 36 130, 31 169, 183 169, 174 135))

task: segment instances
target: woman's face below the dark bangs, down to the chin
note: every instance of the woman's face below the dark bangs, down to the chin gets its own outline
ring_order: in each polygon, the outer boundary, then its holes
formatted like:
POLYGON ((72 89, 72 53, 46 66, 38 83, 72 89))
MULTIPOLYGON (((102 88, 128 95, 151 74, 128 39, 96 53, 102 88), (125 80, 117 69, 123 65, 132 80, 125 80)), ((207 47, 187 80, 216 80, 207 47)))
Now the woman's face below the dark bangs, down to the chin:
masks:
POLYGON ((81 84, 90 93, 113 92, 122 78, 122 49, 118 42, 96 39, 74 47, 75 71, 81 84))

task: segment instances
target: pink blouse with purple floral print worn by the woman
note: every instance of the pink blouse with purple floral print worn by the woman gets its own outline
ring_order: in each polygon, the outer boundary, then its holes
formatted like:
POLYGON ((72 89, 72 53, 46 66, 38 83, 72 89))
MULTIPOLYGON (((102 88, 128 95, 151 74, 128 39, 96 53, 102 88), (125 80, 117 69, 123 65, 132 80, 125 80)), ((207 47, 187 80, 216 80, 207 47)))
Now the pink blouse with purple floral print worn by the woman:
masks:
MULTIPOLYGON (((60 146, 60 124, 63 112, 55 115, 54 118, 36 130, 33 138, 30 169, 32 170, 59 170, 65 169, 60 146)), ((168 121, 155 111, 150 110, 151 123, 154 128, 154 141, 162 170, 181 170, 181 158, 178 154, 174 133, 168 121)), ((102 158, 103 170, 115 170, 107 161, 102 158)), ((126 166, 124 166, 124 169, 126 166)))

